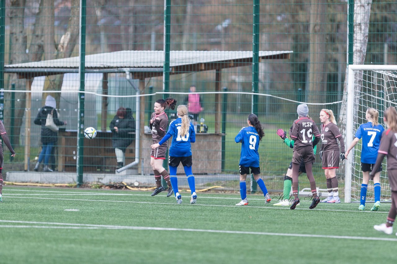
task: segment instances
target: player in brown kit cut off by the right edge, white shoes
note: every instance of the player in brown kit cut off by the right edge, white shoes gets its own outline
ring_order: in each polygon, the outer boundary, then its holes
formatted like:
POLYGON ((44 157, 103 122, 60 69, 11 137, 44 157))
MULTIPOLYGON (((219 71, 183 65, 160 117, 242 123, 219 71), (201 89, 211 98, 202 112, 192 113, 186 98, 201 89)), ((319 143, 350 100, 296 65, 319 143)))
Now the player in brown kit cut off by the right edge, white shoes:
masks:
POLYGON ((397 112, 394 107, 385 110, 383 120, 388 129, 383 133, 380 140, 378 157, 370 177, 373 179, 380 165, 382 165, 383 158, 387 156, 387 177, 389 177, 391 190, 391 207, 386 223, 375 225, 374 228, 390 235, 393 233, 393 223, 397 215, 397 112))

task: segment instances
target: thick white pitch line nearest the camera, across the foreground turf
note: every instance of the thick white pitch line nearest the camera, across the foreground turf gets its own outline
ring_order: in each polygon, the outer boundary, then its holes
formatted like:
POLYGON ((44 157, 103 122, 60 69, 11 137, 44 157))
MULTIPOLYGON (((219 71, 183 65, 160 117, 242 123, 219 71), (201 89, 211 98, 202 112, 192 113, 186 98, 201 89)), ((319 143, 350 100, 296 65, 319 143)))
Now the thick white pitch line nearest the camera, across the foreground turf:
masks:
POLYGON ((331 236, 331 235, 314 235, 314 234, 288 234, 288 233, 270 233, 270 232, 250 232, 250 231, 235 231, 235 230, 212 230, 212 229, 192 229, 192 228, 162 228, 162 227, 150 227, 150 226, 111 226, 111 225, 98 225, 98 224, 52 223, 52 222, 31 222, 31 221, 12 221, 12 220, 0 220, 0 222, 60 225, 60 226, 0 225, 0 227, 6 227, 6 228, 69 228, 69 229, 156 230, 156 231, 208 232, 208 233, 223 233, 223 234, 246 234, 246 235, 261 235, 261 236, 320 237, 320 238, 336 238, 336 239, 397 241, 397 238, 386 238, 386 237, 331 236))

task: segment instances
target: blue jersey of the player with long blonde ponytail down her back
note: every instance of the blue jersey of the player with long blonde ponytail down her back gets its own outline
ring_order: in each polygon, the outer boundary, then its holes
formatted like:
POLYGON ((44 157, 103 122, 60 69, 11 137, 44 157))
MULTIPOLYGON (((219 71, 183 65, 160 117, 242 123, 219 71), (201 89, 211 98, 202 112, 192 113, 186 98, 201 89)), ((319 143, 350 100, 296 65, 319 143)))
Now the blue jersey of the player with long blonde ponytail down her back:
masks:
POLYGON ((170 147, 170 156, 172 157, 189 157, 192 156, 191 144, 196 142, 196 133, 193 124, 190 123, 189 130, 185 136, 181 136, 181 125, 182 119, 177 118, 170 123, 170 127, 166 135, 159 142, 161 145, 172 137, 172 143, 170 147))

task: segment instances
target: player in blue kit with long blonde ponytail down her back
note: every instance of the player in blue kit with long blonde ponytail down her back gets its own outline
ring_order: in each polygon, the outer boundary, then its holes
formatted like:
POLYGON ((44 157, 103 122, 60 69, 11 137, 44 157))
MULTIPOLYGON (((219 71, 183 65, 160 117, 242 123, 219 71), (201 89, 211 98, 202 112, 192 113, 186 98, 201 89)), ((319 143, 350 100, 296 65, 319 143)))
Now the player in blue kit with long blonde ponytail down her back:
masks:
POLYGON ((164 144, 170 137, 172 137, 172 144, 170 147, 170 157, 168 165, 170 166, 170 180, 172 189, 175 193, 177 203, 182 203, 182 196, 178 191, 178 178, 176 176, 177 167, 182 163, 183 169, 187 176, 187 182, 191 190, 190 203, 196 203, 197 194, 195 187, 195 177, 192 173, 192 151, 191 143, 196 142, 196 133, 193 124, 187 117, 187 106, 179 105, 177 108, 178 118, 170 123, 170 127, 163 139, 153 144, 152 149, 156 149, 164 144))

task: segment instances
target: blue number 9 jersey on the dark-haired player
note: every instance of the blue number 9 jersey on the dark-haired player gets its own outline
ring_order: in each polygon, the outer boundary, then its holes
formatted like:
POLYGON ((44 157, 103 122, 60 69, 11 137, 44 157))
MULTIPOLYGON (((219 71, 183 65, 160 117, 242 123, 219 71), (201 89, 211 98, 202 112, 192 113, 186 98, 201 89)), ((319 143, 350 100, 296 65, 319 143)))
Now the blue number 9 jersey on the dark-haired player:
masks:
POLYGON ((259 134, 255 127, 243 127, 235 137, 236 143, 241 142, 239 165, 244 167, 259 167, 259 134))

